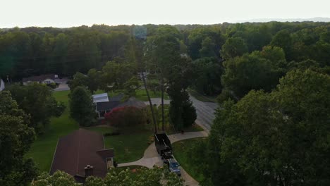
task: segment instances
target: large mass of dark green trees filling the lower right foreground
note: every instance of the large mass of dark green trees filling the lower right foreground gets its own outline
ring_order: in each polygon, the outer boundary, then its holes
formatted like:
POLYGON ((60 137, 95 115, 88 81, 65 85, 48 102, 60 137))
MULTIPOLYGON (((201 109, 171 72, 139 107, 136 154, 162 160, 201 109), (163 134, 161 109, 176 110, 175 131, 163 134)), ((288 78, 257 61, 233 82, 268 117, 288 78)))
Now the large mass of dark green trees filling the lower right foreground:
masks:
POLYGON ((271 93, 226 101, 201 155, 204 177, 213 185, 329 185, 329 92, 329 75, 293 70, 271 93))

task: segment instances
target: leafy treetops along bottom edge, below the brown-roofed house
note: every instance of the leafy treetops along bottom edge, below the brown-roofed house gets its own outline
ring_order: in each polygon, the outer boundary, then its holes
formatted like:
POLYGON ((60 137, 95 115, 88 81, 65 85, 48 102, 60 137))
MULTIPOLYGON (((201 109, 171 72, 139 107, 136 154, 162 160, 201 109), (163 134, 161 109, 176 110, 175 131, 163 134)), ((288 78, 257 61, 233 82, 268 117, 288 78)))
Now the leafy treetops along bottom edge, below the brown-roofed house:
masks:
MULTIPOLYGON (((119 169, 119 168, 118 168, 119 169)), ((78 186, 74 178, 62 171, 56 171, 54 175, 43 173, 40 175, 32 186, 44 185, 63 185, 78 186)), ((106 178, 101 179, 90 176, 86 179, 86 186, 131 186, 131 185, 149 185, 149 186, 182 186, 183 180, 175 173, 169 173, 165 168, 135 168, 135 171, 127 168, 126 170, 111 169, 106 178)))

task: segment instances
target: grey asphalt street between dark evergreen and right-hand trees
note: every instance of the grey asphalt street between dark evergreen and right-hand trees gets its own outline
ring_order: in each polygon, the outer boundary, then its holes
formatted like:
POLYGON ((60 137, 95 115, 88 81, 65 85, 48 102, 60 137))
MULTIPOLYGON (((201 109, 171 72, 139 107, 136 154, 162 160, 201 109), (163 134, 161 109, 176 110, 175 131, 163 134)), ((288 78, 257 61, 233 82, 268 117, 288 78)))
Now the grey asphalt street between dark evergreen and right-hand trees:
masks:
POLYGON ((212 102, 204 102, 190 95, 190 100, 193 101, 193 105, 195 106, 197 119, 195 122, 197 125, 202 126, 205 131, 209 132, 211 130, 211 126, 213 124, 213 120, 215 118, 214 112, 218 107, 218 104, 212 102))

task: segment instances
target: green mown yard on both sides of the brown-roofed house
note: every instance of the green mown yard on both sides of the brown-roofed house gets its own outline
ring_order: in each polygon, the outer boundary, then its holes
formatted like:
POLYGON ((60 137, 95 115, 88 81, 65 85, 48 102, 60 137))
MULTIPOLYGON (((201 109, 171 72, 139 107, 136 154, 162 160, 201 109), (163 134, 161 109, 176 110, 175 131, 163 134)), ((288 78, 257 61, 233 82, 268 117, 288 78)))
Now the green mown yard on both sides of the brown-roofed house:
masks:
MULTIPOLYGON (((30 151, 26 157, 31 157, 40 171, 49 172, 51 161, 53 160, 54 151, 56 149, 59 137, 67 135, 79 128, 78 123, 71 119, 68 110, 68 93, 70 91, 54 92, 56 100, 63 101, 66 104, 66 111, 59 118, 51 118, 49 128, 44 135, 38 136, 37 140, 32 144, 30 151)), ((86 128, 95 132, 111 132, 114 129, 109 127, 92 127, 86 128)), ((147 148, 147 140, 152 135, 149 130, 125 130, 121 135, 104 137, 106 148, 113 147, 115 149, 115 159, 118 162, 135 161, 143 156, 143 152, 147 148)))

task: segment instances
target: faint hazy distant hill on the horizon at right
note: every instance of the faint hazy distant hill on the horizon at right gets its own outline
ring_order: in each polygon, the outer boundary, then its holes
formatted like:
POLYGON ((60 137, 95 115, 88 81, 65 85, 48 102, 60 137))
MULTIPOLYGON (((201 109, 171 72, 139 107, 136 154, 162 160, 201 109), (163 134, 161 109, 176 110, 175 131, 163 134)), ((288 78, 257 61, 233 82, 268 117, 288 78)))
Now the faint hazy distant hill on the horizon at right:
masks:
POLYGON ((238 23, 245 23, 245 22, 271 22, 271 21, 279 21, 279 22, 305 22, 305 21, 313 21, 313 22, 330 22, 330 18, 259 18, 259 19, 250 19, 250 20, 239 20, 238 23))

